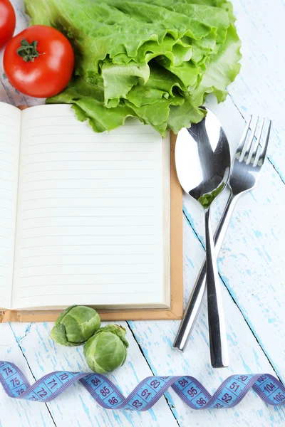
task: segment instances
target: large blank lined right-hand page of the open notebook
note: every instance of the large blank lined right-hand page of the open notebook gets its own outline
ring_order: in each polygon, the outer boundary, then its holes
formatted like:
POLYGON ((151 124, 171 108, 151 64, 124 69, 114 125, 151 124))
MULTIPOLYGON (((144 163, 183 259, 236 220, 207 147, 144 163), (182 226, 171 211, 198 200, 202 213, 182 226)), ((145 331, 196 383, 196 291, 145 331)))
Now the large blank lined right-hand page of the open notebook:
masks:
POLYGON ((161 158, 151 127, 95 134, 68 106, 26 110, 16 305, 162 300, 161 158))

